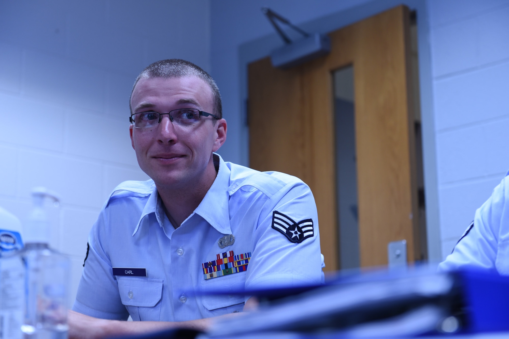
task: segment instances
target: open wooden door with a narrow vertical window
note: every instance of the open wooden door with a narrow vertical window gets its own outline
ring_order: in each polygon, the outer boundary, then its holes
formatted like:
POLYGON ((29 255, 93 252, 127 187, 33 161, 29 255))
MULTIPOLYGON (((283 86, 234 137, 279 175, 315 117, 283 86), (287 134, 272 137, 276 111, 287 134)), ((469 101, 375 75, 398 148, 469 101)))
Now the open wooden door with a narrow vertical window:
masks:
POLYGON ((419 256, 409 11, 399 6, 329 33, 331 52, 275 69, 249 64, 250 166, 302 179, 318 208, 326 269, 337 263, 332 72, 354 67, 361 266, 387 264, 387 244, 407 241, 419 256))

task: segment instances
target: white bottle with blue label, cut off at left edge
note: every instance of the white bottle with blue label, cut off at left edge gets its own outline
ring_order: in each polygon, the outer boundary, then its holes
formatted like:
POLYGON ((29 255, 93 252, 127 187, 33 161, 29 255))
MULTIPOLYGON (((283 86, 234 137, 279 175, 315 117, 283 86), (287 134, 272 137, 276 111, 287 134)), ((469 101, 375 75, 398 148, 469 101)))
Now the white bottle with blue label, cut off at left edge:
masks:
POLYGON ((0 208, 0 339, 21 339, 25 270, 16 255, 23 247, 21 223, 0 208))

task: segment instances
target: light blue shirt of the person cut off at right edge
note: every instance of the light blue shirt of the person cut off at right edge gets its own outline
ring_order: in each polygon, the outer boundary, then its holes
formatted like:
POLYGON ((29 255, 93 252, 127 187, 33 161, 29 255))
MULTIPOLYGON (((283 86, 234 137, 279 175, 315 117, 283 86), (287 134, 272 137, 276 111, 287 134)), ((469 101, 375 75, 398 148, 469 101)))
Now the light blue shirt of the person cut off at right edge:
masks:
POLYGON ((490 198, 475 212, 474 221, 440 270, 463 266, 496 269, 509 275, 509 177, 495 187, 490 198))

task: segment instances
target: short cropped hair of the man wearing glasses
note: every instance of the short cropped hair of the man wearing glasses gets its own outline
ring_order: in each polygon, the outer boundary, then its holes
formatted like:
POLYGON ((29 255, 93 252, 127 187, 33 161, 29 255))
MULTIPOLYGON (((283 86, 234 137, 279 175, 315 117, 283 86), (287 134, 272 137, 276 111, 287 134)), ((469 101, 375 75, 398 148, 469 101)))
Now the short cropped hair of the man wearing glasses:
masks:
POLYGON ((195 65, 192 62, 182 59, 165 59, 151 63, 138 75, 134 85, 132 86, 131 95, 129 96, 129 110, 132 114, 131 98, 132 92, 140 79, 151 79, 151 78, 183 78, 195 76, 207 83, 210 90, 212 91, 212 99, 214 101, 214 112, 210 112, 215 116, 222 119, 222 104, 221 95, 219 94, 219 88, 217 88, 216 82, 212 77, 205 72, 200 66, 195 65))

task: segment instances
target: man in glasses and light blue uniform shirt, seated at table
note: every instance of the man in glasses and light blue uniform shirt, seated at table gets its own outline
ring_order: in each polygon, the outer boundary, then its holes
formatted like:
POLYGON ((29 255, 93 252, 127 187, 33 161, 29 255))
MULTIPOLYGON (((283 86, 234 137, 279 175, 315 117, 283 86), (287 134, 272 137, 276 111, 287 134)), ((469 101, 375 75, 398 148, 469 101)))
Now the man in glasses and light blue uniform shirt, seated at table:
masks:
POLYGON ((121 183, 105 202, 90 232, 71 337, 205 328, 204 319, 252 300, 192 290, 323 281, 309 187, 214 153, 227 122, 205 71, 179 59, 155 62, 136 79, 130 107, 132 147, 152 180, 121 183), (119 321, 129 315, 148 322, 119 321))

